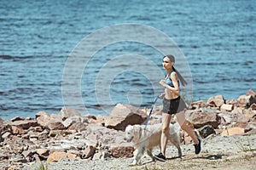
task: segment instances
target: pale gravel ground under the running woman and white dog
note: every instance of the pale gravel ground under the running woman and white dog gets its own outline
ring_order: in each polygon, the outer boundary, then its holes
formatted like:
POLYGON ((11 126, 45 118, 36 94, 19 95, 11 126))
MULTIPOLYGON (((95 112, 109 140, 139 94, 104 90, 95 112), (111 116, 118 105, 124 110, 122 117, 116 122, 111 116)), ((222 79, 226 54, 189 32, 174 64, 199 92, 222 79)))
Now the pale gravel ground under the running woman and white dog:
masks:
MULTIPOLYGON (((212 137, 202 141, 201 154, 194 154, 193 144, 182 145, 183 157, 177 158, 177 150, 168 145, 166 162, 151 161, 147 155, 141 159, 141 165, 130 167, 132 158, 108 159, 107 161, 78 161, 65 159, 58 162, 44 162, 49 170, 77 169, 255 169, 256 135, 212 137)), ((155 149, 154 154, 159 150, 155 149)), ((37 170, 40 164, 23 167, 22 170, 37 170)))

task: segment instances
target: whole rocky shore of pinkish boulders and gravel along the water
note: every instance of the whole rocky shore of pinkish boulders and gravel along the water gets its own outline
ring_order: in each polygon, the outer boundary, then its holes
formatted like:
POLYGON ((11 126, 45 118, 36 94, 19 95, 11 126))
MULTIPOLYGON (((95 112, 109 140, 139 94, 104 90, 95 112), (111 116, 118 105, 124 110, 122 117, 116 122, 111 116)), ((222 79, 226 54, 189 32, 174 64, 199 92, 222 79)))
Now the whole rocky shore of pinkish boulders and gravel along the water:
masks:
MULTIPOLYGON (((155 107, 149 124, 160 122, 155 107)), ((82 116, 63 107, 58 114, 38 112, 35 117, 0 119, 0 169, 253 169, 256 161, 256 93, 249 89, 238 99, 222 95, 193 102, 186 117, 201 134, 202 151, 181 133, 183 157, 175 158, 171 145, 167 161, 129 167, 133 146, 124 139, 125 127, 143 124, 149 109, 119 104, 109 116, 82 116), (241 167, 242 166, 242 167, 241 167)), ((172 121, 175 123, 175 120, 172 121)), ((156 152, 159 150, 156 149, 156 152)))

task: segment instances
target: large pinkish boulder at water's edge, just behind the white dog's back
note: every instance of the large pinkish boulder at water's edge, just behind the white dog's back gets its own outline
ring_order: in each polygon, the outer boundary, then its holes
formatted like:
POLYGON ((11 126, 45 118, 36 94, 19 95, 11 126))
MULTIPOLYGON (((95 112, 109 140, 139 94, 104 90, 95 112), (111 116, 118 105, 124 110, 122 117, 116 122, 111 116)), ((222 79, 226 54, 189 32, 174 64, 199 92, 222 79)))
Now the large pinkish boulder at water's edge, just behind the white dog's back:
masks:
POLYGON ((137 107, 118 104, 108 116, 105 127, 124 131, 127 125, 142 124, 147 118, 147 114, 138 110, 137 107))

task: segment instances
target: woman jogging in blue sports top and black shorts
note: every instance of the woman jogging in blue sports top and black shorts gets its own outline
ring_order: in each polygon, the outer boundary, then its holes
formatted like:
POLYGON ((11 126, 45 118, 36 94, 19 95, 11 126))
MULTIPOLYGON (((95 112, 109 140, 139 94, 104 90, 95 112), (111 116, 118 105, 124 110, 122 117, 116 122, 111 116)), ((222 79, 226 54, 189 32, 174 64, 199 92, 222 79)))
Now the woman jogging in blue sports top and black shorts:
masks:
POLYGON ((172 116, 176 114, 177 122, 189 136, 193 139, 195 145, 195 154, 199 154, 201 151, 201 139, 197 139, 194 130, 187 125, 185 119, 184 109, 186 105, 183 99, 179 95, 179 82, 186 85, 187 82, 173 67, 175 58, 172 54, 164 56, 162 65, 166 70, 166 77, 164 80, 160 80, 160 85, 165 88, 165 93, 160 95, 163 98, 163 110, 162 110, 162 133, 161 133, 161 150, 160 154, 154 156, 159 161, 166 161, 166 144, 167 134, 169 132, 170 122, 172 116))

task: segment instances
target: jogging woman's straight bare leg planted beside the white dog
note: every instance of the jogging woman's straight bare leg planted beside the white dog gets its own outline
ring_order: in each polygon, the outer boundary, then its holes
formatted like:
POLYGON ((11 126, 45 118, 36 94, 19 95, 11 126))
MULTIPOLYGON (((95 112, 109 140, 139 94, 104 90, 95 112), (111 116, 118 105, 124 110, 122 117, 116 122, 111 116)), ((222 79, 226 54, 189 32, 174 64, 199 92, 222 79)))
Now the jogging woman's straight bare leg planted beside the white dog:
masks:
POLYGON ((161 152, 163 156, 166 156, 167 135, 169 133, 171 119, 171 114, 162 113, 161 152))

